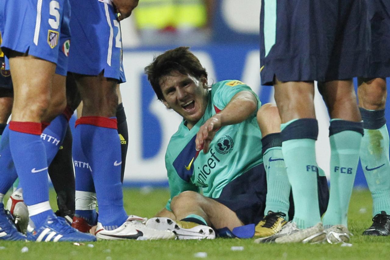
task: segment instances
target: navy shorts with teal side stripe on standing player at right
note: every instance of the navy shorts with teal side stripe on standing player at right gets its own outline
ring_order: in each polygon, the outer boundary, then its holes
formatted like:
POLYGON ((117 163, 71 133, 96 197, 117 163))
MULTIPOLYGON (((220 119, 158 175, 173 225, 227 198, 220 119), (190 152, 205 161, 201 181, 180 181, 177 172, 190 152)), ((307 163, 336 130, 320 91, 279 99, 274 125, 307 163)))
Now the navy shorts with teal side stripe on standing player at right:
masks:
POLYGON ((345 80, 365 72, 366 0, 262 0, 261 83, 345 80))

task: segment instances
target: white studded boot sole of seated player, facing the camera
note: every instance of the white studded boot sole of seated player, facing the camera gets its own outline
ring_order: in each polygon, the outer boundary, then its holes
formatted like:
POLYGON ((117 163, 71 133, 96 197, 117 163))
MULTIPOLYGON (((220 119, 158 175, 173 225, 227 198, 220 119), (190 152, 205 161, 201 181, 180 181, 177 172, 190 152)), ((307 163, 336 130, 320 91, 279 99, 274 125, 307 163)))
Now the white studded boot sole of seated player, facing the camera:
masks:
POLYGON ((152 217, 146 226, 158 230, 171 230, 178 239, 215 239, 213 228, 188 221, 173 221, 168 217, 152 217))

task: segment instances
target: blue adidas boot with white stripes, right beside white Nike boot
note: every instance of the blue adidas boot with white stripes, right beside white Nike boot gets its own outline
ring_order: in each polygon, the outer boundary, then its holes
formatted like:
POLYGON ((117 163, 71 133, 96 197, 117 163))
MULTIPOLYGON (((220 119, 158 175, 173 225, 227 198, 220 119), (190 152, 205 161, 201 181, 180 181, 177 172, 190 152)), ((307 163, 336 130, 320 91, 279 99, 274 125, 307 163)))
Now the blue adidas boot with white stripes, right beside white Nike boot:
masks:
POLYGON ((89 242, 96 241, 96 237, 82 233, 66 222, 64 218, 48 216, 39 228, 27 227, 27 239, 36 242, 89 242))

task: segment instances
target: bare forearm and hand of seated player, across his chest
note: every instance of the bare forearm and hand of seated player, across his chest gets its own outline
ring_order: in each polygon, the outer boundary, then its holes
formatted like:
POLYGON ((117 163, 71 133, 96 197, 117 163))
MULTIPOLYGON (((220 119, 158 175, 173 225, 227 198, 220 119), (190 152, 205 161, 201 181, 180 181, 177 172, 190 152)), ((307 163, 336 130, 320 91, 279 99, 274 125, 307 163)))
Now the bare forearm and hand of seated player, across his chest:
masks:
POLYGON ((219 113, 209 118, 200 126, 195 139, 196 149, 209 151, 209 144, 213 140, 215 132, 226 125, 241 123, 257 109, 257 100, 249 91, 241 91, 233 96, 226 107, 219 113))

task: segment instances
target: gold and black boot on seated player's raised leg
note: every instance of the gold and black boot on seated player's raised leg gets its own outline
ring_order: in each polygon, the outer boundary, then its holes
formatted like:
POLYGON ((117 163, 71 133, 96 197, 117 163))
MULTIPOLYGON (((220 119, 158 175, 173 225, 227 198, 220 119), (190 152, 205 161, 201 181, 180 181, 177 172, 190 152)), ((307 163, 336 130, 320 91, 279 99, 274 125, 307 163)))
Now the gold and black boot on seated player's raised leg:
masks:
POLYGON ((278 233, 284 224, 287 223, 283 212, 269 211, 267 215, 255 227, 255 237, 269 237, 278 233))

